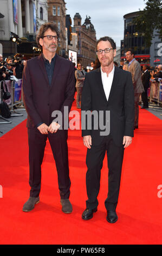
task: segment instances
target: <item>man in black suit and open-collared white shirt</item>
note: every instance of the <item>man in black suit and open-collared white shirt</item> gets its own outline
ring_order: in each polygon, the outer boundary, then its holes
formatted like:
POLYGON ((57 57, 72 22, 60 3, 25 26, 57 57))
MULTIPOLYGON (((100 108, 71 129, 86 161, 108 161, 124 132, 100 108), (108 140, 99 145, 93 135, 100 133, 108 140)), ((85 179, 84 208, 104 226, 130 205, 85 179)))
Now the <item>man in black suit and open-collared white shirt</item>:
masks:
MULTIPOLYGON (((101 133, 103 127, 100 127, 100 121, 97 122, 94 116, 92 129, 87 127, 89 121, 86 124, 82 122, 82 136, 83 143, 87 147, 86 164, 88 168, 86 174, 88 200, 82 218, 89 220, 97 210, 102 162, 107 151, 106 219, 109 223, 114 223, 118 220, 116 205, 118 203, 124 149, 131 144, 133 137, 134 91, 131 73, 113 65, 116 45, 112 38, 105 36, 99 39, 97 54, 101 68, 86 74, 81 109, 82 115, 87 111, 96 111, 99 115, 102 112, 105 119, 104 123, 110 123, 110 132, 106 135, 101 133), (109 120, 107 113, 110 113, 109 120), (94 127, 96 123, 98 123, 99 129, 94 127)), ((100 120, 100 116, 98 120, 100 120)))

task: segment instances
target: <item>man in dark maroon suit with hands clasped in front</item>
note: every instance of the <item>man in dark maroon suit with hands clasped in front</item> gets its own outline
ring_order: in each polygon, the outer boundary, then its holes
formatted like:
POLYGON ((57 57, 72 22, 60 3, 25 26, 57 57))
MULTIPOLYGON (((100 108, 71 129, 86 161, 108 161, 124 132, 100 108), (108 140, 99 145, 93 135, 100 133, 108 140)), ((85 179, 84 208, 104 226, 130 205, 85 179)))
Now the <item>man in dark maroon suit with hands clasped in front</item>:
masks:
POLYGON ((68 127, 58 124, 53 113, 60 111, 58 113, 68 118, 64 107, 68 107, 69 112, 74 99, 74 66, 72 62, 56 54, 58 35, 54 23, 48 22, 41 26, 37 34, 37 44, 43 53, 27 60, 23 71, 23 99, 28 113, 31 187, 29 200, 23 206, 25 212, 33 210, 35 204, 40 202, 41 164, 47 138, 56 163, 62 211, 72 212, 72 204, 69 201, 68 127))

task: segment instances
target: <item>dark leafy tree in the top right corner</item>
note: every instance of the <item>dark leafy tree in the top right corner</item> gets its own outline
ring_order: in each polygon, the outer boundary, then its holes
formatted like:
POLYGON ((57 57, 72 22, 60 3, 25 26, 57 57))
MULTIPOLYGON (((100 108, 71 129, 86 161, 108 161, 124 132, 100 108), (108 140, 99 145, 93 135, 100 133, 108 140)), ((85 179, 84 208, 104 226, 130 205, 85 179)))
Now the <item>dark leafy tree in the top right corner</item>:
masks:
MULTIPOLYGON (((145 1, 145 0, 144 0, 145 1)), ((145 38, 146 46, 151 46, 153 32, 157 31, 162 39, 162 1, 148 0, 143 11, 135 18, 136 30, 145 38)))

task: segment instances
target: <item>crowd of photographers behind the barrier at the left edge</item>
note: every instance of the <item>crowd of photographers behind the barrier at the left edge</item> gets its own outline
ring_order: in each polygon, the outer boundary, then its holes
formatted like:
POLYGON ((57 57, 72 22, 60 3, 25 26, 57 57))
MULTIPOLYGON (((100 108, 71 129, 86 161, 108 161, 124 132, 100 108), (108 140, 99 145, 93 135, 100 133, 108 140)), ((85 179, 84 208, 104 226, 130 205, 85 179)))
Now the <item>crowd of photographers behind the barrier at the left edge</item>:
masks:
POLYGON ((18 53, 4 60, 2 54, 0 54, 0 81, 10 80, 11 76, 22 79, 25 62, 26 60, 18 53))

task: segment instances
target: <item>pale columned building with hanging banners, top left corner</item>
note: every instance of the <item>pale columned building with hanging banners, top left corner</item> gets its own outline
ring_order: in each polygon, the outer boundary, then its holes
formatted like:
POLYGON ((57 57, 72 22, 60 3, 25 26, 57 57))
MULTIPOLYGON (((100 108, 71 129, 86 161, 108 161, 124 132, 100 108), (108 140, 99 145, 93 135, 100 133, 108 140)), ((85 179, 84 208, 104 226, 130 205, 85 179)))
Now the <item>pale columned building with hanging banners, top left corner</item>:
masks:
POLYGON ((48 21, 47 0, 1 0, 0 44, 3 56, 33 56, 36 31, 48 21), (13 42, 12 38, 16 37, 13 42))

